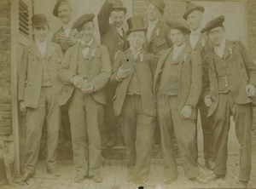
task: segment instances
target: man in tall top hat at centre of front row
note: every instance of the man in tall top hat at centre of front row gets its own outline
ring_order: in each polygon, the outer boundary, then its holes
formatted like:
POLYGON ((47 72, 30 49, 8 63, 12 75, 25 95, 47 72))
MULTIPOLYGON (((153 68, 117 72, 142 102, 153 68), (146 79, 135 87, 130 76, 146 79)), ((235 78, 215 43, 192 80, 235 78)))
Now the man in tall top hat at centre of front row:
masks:
POLYGON ((130 48, 117 55, 111 81, 117 83, 113 96, 114 115, 120 118, 128 163, 128 180, 148 183, 155 103, 153 96, 154 55, 143 50, 146 41, 143 17, 127 20, 130 48))

